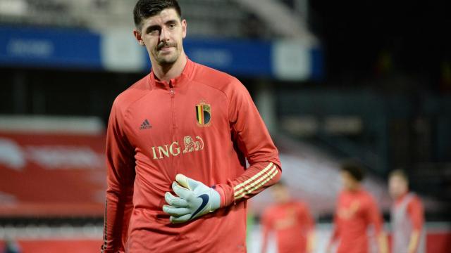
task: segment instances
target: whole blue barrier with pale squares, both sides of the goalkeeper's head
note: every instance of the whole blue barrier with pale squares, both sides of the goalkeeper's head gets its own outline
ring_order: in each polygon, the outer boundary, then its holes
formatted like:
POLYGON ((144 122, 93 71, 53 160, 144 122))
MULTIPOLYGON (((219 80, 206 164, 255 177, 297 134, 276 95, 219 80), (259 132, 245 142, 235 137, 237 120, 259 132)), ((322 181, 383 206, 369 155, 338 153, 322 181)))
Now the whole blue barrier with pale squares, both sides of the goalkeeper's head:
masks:
MULTIPOLYGON (((245 39, 184 40, 185 51, 192 60, 230 74, 292 80, 321 78, 323 63, 318 46, 305 48, 288 41, 288 48, 294 50, 287 51, 285 44, 245 39)), ((125 72, 148 72, 151 67, 144 48, 129 31, 100 34, 12 26, 0 26, 0 66, 125 72)))

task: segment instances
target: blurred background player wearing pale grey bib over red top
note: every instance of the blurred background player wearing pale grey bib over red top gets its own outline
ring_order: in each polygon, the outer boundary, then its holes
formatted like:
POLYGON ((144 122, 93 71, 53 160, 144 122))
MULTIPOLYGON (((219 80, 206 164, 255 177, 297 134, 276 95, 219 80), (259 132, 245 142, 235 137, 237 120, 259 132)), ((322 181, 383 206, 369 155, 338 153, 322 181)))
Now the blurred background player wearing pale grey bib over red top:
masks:
POLYGON ((421 200, 409 193, 409 180, 397 169, 388 176, 388 190, 395 201, 392 207, 392 252, 426 252, 424 209, 421 200))

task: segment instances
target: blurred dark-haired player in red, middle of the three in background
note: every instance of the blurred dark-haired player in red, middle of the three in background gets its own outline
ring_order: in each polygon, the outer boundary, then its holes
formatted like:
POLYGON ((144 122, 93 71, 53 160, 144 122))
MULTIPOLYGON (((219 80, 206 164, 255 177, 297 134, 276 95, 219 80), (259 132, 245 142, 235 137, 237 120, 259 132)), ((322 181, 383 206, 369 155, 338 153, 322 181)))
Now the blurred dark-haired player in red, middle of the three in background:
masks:
POLYGON ((373 197, 361 185, 364 179, 362 167, 354 162, 342 164, 341 177, 344 189, 338 196, 334 217, 335 228, 328 252, 336 240, 340 240, 338 253, 369 252, 366 231, 370 225, 373 225, 376 233, 379 252, 388 252, 381 213, 373 197))

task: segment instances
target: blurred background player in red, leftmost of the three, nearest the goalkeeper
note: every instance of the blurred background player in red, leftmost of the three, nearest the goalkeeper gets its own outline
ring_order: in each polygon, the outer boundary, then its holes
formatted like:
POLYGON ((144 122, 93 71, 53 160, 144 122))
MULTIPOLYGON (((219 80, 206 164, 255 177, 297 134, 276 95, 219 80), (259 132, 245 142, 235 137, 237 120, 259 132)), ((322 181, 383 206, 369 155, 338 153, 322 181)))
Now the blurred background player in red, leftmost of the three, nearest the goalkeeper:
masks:
POLYGON ((266 252, 268 234, 271 232, 276 235, 278 253, 313 252, 314 220, 307 205, 293 200, 282 181, 271 187, 271 190, 276 205, 268 207, 261 219, 261 252, 266 252))

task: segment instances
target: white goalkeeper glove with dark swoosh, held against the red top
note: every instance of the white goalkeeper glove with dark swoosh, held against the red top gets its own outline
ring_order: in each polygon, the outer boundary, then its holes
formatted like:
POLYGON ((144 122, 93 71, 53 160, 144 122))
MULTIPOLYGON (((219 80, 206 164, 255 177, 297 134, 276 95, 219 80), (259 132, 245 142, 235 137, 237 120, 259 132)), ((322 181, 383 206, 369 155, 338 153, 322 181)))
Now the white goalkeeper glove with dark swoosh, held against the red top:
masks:
POLYGON ((183 174, 177 174, 172 183, 172 189, 177 196, 166 192, 164 199, 168 205, 163 205, 163 212, 171 215, 172 223, 183 223, 199 216, 214 212, 221 206, 221 196, 213 188, 204 183, 190 179, 183 174))

